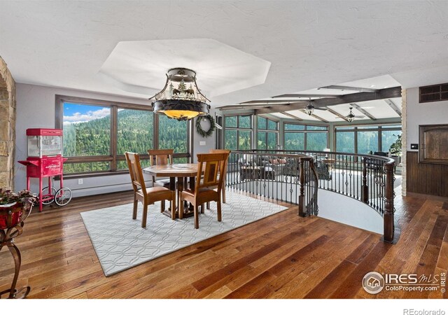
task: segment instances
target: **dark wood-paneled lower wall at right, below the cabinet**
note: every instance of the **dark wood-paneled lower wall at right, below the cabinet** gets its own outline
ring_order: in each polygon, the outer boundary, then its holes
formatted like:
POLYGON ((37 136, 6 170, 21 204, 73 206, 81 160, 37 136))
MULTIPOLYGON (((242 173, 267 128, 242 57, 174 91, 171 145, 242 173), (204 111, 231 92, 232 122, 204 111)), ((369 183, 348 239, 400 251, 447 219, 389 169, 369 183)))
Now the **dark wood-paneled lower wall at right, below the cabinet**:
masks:
POLYGON ((448 197, 448 165, 419 164, 419 153, 407 151, 407 191, 448 197))

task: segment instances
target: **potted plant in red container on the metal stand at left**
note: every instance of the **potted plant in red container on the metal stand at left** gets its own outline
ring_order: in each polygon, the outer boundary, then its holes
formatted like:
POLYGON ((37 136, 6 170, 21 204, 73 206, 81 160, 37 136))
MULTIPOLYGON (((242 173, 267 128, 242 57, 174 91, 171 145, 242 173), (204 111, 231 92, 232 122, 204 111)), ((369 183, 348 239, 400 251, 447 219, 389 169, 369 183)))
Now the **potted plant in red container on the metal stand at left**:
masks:
POLYGON ((0 188, 0 229, 12 228, 22 220, 22 214, 31 212, 37 197, 29 190, 14 193, 12 190, 0 188))

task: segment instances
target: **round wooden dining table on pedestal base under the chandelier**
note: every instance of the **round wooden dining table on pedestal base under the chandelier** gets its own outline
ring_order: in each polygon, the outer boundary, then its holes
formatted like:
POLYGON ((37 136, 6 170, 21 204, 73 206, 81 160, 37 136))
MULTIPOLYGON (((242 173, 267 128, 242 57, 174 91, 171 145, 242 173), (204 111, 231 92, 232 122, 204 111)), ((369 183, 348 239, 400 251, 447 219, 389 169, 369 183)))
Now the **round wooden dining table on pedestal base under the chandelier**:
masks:
MULTIPOLYGON (((177 204, 176 218, 183 218, 193 216, 193 208, 184 207, 183 214, 179 213, 179 204, 181 198, 181 192, 184 188, 190 188, 195 190, 195 179, 197 176, 197 164, 172 164, 172 165, 154 165, 152 167, 146 167, 143 169, 145 174, 149 174, 154 177, 169 177, 169 189, 177 192, 177 204), (176 185, 177 178, 177 185, 176 185), (188 186, 188 178, 190 178, 190 186, 188 186)), ((171 211, 165 210, 165 215, 171 218, 171 211)))

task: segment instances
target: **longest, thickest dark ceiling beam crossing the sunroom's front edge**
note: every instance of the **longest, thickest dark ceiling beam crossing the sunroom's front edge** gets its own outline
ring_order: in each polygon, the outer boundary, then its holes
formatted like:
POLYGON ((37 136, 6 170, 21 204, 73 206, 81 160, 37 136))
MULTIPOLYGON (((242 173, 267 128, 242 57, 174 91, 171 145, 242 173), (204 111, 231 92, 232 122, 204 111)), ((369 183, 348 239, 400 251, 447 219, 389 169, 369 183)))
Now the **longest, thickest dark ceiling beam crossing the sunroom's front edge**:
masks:
MULTIPOLYGON (((341 95, 337 98, 314 99, 311 101, 316 109, 326 109, 327 106, 349 104, 356 102, 373 101, 375 99, 393 99, 401 97, 401 87, 388 87, 386 89, 377 90, 377 92, 360 92, 353 94, 341 95)), ((255 114, 262 113, 279 113, 281 111, 293 111, 295 109, 304 109, 308 102, 295 102, 289 105, 279 105, 272 108, 255 109, 255 114)))

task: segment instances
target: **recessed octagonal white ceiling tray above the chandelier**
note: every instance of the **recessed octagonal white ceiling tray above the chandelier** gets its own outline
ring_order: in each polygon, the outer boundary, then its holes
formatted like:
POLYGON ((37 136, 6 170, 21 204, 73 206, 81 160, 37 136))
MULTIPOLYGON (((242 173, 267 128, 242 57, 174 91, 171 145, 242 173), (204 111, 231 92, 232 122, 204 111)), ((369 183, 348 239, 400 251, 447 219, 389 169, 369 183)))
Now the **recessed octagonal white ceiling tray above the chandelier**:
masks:
POLYGON ((167 69, 194 69, 211 98, 265 83, 270 65, 214 39, 120 41, 99 72, 121 90, 148 95, 165 86, 167 69))

